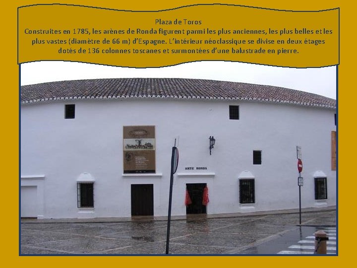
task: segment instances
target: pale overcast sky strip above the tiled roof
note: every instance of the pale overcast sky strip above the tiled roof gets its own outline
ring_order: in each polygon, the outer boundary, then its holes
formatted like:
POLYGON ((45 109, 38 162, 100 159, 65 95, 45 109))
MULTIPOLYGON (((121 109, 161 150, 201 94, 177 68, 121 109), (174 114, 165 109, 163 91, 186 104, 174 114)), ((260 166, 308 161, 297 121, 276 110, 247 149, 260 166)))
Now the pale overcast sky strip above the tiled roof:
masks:
POLYGON ((21 85, 125 77, 200 78, 264 84, 336 99, 336 67, 304 69, 232 62, 195 62, 161 68, 124 68, 72 62, 21 64, 21 85))

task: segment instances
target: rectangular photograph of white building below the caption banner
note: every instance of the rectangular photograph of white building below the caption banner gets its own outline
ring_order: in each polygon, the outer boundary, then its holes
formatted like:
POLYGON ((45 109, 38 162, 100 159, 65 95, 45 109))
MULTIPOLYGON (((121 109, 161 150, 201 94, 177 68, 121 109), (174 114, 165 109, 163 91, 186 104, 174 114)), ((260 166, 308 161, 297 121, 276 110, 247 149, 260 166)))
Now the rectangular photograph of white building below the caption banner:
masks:
POLYGON ((21 64, 20 254, 336 255, 337 77, 21 64))

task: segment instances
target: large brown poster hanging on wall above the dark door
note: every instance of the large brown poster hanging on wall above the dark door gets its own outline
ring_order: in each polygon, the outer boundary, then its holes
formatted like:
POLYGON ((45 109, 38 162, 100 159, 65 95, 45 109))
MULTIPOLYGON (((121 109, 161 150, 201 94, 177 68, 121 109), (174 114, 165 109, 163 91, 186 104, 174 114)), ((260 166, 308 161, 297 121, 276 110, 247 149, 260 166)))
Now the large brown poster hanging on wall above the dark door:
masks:
POLYGON ((155 126, 123 127, 124 173, 155 173, 155 126))

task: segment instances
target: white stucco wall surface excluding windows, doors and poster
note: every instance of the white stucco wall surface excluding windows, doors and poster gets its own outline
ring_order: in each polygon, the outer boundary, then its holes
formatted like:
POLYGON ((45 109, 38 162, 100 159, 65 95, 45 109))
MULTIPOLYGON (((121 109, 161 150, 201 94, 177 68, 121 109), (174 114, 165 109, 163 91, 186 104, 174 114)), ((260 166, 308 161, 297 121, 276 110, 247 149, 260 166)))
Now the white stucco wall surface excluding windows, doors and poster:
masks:
POLYGON ((208 214, 298 208, 296 146, 302 147, 302 207, 336 204, 331 171, 334 110, 241 101, 162 99, 72 100, 21 107, 21 176, 44 174, 45 218, 131 215, 130 185, 154 185, 154 215, 167 215, 171 150, 179 136, 173 215, 184 215, 186 183, 207 183, 208 214), (75 119, 64 119, 75 104, 75 119), (229 120, 239 105, 239 120, 229 120), (155 126, 154 178, 123 175, 123 126, 155 126), (216 145, 209 155, 209 136, 216 145), (262 164, 253 165, 253 150, 262 164), (185 167, 207 167, 187 171, 185 167), (239 204, 239 174, 255 179, 255 203, 239 204), (314 200, 313 175, 327 176, 327 201, 314 200), (77 208, 76 180, 94 178, 94 209, 77 208), (190 176, 186 173, 210 173, 190 176))

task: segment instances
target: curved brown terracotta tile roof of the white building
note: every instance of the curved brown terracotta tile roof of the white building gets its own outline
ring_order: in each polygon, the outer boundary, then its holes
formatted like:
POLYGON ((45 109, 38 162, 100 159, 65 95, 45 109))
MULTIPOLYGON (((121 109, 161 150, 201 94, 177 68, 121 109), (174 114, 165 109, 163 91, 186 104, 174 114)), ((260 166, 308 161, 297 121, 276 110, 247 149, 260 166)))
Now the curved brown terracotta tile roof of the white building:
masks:
POLYGON ((336 100, 312 93, 277 86, 204 79, 111 78, 21 86, 22 104, 117 98, 248 100, 336 109, 336 100))

